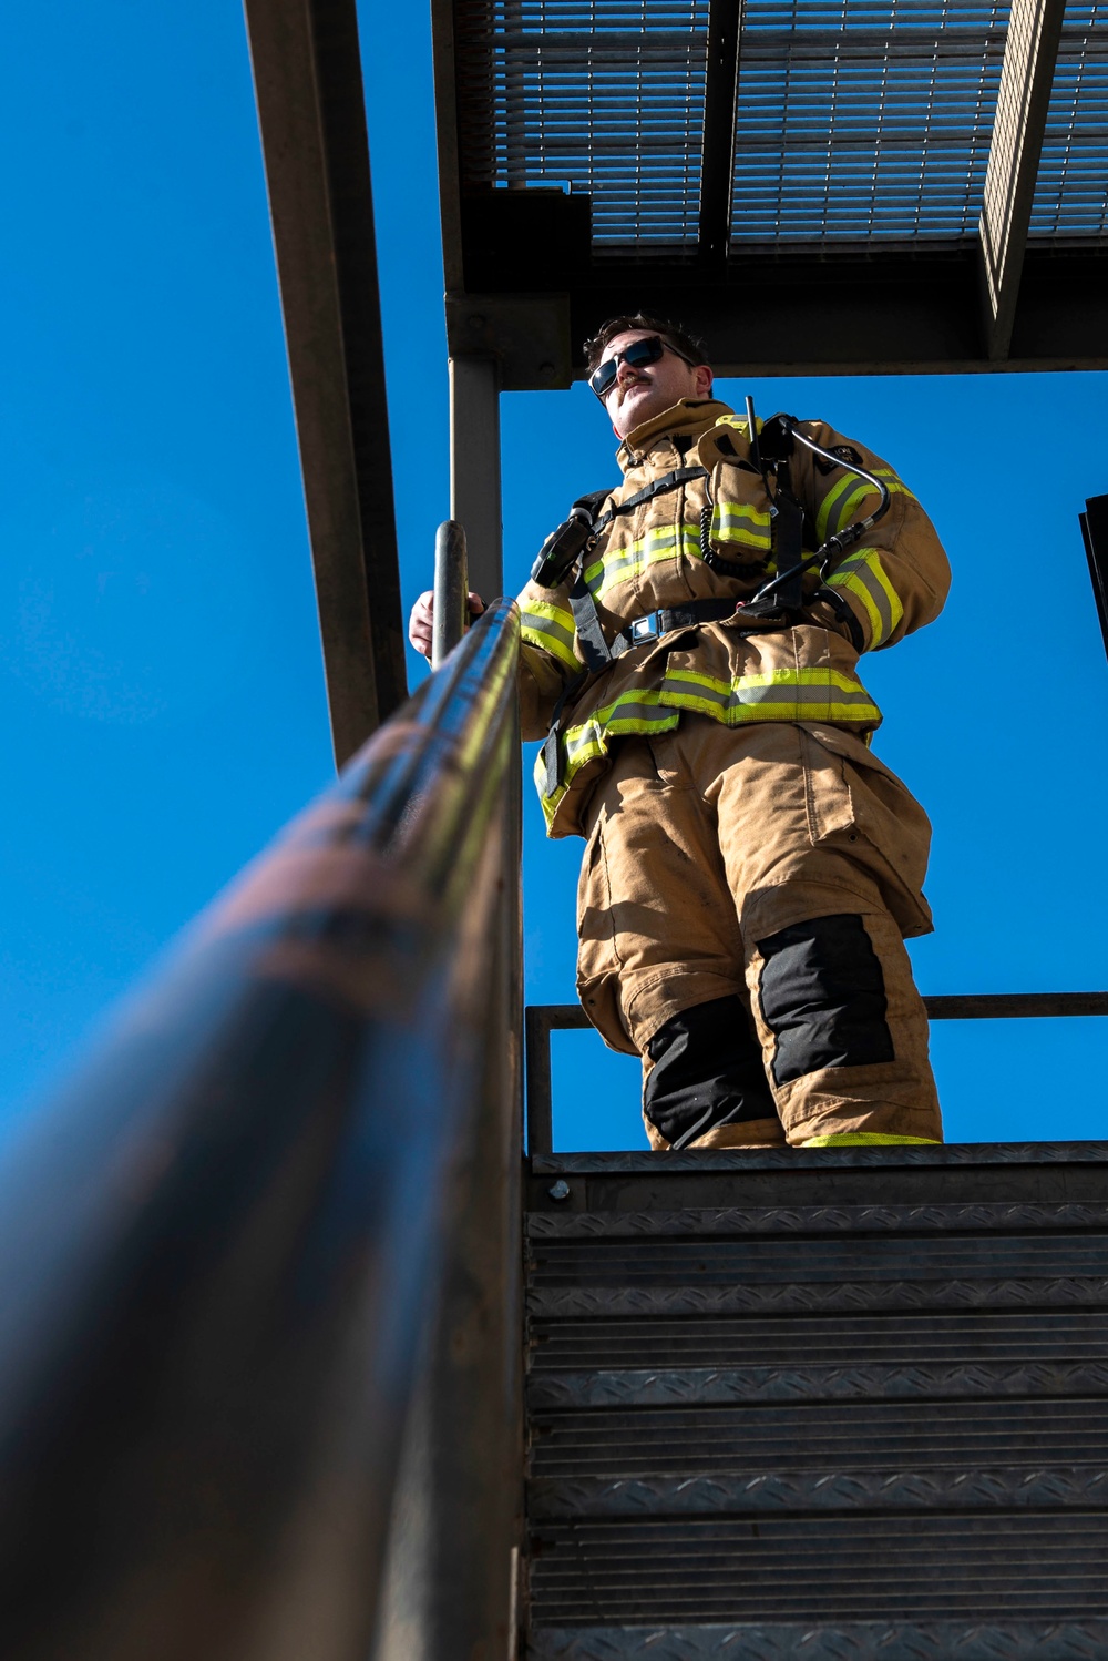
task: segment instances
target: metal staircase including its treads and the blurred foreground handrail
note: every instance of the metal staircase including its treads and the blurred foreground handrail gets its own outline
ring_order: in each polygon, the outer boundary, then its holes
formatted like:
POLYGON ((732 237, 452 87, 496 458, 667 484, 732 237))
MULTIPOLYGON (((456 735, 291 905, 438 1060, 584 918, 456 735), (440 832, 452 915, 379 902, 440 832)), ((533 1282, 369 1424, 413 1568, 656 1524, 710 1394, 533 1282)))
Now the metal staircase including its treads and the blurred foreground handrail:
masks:
POLYGON ((1108 1656, 1108 1143, 554 1154, 518 641, 0 1161, 5 1661, 1108 1656))

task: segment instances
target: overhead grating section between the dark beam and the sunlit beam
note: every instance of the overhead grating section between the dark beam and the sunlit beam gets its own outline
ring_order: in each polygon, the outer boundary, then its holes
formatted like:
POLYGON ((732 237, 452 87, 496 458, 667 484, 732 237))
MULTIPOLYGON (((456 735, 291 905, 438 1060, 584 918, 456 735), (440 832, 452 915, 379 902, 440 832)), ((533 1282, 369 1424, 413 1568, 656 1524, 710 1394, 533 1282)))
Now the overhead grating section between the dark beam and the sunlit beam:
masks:
POLYGON ((974 236, 1005 5, 748 0, 735 243, 974 236))

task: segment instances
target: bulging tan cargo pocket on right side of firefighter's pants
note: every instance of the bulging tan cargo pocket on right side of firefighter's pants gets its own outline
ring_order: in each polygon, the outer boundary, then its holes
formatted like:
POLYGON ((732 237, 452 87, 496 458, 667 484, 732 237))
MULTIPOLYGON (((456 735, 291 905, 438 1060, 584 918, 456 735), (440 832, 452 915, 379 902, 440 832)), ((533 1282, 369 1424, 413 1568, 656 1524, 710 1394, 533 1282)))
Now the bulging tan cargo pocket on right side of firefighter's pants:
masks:
POLYGON ((922 894, 931 852, 927 814, 853 733, 824 726, 799 731, 813 844, 843 849, 866 865, 904 935, 929 933, 934 924, 922 894))

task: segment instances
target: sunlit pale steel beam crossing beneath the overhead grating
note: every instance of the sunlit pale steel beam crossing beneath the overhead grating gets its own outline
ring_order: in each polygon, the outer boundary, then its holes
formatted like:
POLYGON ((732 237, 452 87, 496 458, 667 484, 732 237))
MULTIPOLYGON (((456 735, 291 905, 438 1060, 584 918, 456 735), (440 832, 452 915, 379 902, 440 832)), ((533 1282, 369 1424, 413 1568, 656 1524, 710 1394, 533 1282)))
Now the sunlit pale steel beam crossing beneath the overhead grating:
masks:
POLYGON ((1013 0, 979 223, 987 354, 1005 359, 1065 0, 1013 0))

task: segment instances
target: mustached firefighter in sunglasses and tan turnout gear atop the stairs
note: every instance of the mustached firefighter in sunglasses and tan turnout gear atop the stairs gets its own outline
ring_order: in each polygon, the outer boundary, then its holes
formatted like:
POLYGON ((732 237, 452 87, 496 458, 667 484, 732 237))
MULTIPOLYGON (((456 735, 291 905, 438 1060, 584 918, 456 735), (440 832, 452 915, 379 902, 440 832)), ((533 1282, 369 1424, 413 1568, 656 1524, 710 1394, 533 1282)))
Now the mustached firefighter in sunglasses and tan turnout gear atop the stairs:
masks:
MULTIPOLYGON (((519 600, 547 834, 586 839, 582 1007, 642 1056, 657 1149, 937 1143, 904 948, 932 927, 931 827, 869 749, 856 673, 940 611, 934 527, 826 424, 751 435, 682 327, 615 317, 586 352, 624 482, 581 498, 581 558, 537 561, 519 600)), ((426 593, 426 654, 430 630, 426 593)))

